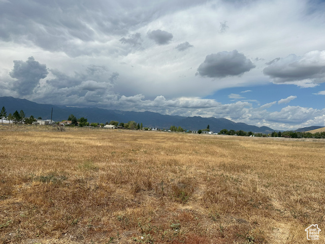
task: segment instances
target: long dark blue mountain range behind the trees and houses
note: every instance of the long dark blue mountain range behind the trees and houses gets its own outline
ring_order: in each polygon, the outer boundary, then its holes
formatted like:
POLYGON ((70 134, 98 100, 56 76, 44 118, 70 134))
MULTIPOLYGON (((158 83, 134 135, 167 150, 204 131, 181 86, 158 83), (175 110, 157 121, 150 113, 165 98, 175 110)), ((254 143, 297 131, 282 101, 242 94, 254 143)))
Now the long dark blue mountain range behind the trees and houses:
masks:
MULTIPOLYGON (((105 123, 106 121, 116 120, 127 123, 134 120, 137 123, 142 123, 144 127, 154 127, 159 129, 169 129, 171 126, 181 126, 187 130, 205 129, 210 126, 213 132, 219 132, 222 129, 227 130, 243 130, 260 133, 271 133, 274 131, 269 127, 250 126, 244 123, 235 123, 226 118, 214 117, 184 117, 176 115, 163 115, 155 112, 133 112, 108 110, 101 108, 75 108, 66 106, 56 106, 49 104, 38 104, 26 99, 18 99, 13 97, 0 97, 0 107, 5 106, 7 114, 23 110, 26 116, 33 115, 34 117, 42 117, 43 119, 51 118, 51 109, 53 108, 53 120, 61 121, 67 119, 70 114, 77 118, 85 117, 90 123, 105 123)), ((1 108, 0 108, 1 109, 1 108)))

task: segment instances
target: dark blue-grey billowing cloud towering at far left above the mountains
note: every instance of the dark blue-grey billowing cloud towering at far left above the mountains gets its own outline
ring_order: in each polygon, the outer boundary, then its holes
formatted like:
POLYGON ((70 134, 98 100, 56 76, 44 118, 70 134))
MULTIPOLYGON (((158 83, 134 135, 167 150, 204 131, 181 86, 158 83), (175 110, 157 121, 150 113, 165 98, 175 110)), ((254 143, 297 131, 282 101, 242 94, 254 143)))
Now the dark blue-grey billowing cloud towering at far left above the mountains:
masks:
POLYGON ((14 60, 14 68, 9 75, 17 79, 12 84, 13 90, 20 95, 29 95, 48 73, 46 65, 40 64, 31 56, 26 62, 14 60))

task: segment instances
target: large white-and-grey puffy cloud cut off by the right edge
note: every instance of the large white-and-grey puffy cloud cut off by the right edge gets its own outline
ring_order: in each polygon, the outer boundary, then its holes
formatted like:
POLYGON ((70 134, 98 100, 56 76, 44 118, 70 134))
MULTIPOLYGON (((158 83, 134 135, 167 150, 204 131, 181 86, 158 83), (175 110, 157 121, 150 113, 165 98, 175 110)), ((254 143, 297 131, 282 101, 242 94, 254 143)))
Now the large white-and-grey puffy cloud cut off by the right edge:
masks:
POLYGON ((277 57, 263 70, 274 83, 292 83, 302 87, 325 82, 325 51, 310 51, 303 56, 277 57))

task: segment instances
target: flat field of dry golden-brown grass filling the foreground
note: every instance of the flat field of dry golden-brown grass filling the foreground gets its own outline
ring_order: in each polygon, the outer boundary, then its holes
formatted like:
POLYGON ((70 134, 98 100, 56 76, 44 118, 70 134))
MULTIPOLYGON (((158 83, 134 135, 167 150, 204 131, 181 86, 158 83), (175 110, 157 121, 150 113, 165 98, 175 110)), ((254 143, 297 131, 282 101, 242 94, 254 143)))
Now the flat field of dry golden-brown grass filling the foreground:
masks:
POLYGON ((325 241, 322 139, 14 126, 0 138, 0 243, 325 241))

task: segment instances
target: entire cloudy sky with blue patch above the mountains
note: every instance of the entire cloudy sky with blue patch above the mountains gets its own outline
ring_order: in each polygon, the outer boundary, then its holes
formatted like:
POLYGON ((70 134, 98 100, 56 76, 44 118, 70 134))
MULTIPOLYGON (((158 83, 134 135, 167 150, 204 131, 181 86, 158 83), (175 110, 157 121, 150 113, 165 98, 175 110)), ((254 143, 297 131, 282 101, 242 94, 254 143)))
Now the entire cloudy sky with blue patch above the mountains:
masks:
POLYGON ((323 0, 0 0, 0 96, 325 126, 323 0))

